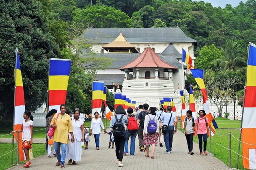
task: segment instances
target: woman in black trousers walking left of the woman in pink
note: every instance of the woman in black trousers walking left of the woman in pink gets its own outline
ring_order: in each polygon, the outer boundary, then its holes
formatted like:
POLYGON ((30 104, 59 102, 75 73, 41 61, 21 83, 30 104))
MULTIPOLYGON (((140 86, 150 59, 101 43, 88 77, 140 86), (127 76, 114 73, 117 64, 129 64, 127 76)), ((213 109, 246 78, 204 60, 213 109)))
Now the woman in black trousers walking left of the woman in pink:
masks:
POLYGON ((184 130, 185 130, 185 137, 188 144, 189 152, 188 154, 193 155, 193 137, 194 137, 194 129, 195 129, 195 120, 192 117, 192 111, 188 110, 186 112, 186 116, 184 119, 184 130))

